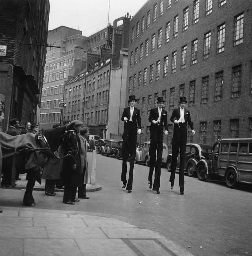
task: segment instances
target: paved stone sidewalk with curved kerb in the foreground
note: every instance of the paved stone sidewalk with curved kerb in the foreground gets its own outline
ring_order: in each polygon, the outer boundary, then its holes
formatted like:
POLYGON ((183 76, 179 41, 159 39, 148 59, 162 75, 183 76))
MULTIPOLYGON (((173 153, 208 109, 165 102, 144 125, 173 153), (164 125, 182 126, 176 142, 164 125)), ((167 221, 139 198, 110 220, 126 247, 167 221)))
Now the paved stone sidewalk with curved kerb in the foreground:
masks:
POLYGON ((2 207, 1 256, 191 256, 152 230, 82 211, 2 207))

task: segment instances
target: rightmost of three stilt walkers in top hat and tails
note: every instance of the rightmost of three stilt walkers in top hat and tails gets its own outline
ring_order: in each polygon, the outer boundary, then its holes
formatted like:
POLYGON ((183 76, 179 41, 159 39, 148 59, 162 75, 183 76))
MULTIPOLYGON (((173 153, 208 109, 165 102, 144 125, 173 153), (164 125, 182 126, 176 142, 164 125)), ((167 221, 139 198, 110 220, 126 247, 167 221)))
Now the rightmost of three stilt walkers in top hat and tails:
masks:
POLYGON ((192 134, 195 134, 193 130, 193 123, 191 121, 190 112, 185 109, 187 103, 184 96, 180 97, 180 108, 174 109, 170 117, 170 121, 174 123, 173 137, 172 137, 172 163, 170 173, 170 189, 173 189, 175 180, 175 171, 178 163, 178 152, 180 152, 180 167, 179 167, 179 185, 180 195, 184 195, 185 181, 184 181, 184 163, 185 163, 185 148, 187 139, 187 122, 191 127, 192 134))

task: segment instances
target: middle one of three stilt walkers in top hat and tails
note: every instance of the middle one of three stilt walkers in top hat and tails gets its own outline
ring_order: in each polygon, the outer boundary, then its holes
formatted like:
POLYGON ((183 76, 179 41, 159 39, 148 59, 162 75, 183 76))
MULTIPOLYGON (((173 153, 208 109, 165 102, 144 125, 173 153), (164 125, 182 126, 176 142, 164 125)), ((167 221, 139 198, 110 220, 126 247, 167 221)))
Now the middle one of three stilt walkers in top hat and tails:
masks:
POLYGON ((160 193, 160 176, 161 176, 161 164, 163 154, 163 125, 165 126, 165 135, 168 134, 167 125, 167 111, 163 109, 165 100, 163 97, 158 97, 157 108, 150 110, 149 122, 150 122, 150 167, 149 167, 149 184, 152 188, 152 175, 155 167, 155 178, 152 190, 160 193), (157 150, 157 156, 156 156, 157 150))

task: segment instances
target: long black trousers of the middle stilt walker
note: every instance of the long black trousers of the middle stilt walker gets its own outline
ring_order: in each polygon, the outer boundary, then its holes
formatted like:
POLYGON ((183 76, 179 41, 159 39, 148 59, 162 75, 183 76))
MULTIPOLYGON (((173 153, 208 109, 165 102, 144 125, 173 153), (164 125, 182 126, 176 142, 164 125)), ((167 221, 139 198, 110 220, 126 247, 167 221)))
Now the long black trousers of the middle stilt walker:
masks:
POLYGON ((160 176, 161 176, 161 164, 163 154, 163 126, 152 126, 150 132, 150 169, 148 180, 152 185, 152 175, 155 167, 155 178, 152 190, 159 190, 160 176), (156 160, 157 150, 157 160, 156 160))

